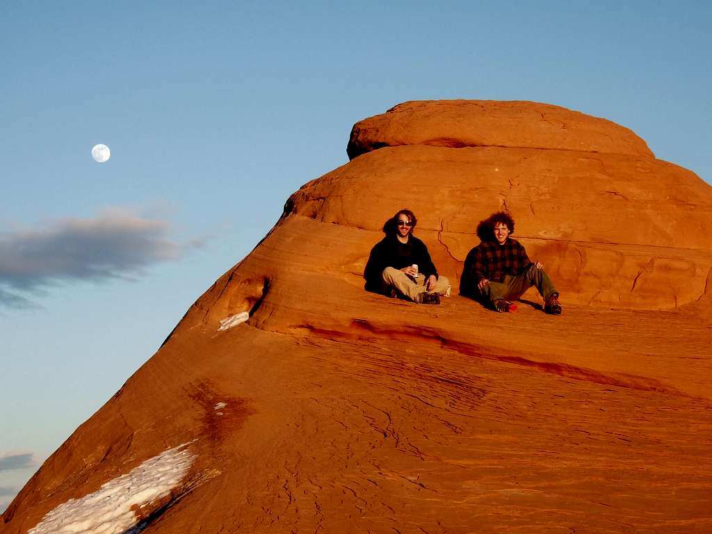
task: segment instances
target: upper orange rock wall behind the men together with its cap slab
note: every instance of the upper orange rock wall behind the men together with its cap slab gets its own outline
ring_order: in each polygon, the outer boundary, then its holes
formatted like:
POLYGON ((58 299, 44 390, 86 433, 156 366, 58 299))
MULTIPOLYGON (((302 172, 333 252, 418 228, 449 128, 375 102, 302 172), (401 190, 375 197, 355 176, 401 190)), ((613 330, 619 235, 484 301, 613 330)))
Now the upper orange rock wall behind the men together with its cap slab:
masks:
POLYGON ((674 308, 709 287, 710 187, 607 120, 524 102, 413 102, 358 122, 347 152, 364 156, 303 187, 298 213, 323 202, 321 220, 372 229, 367 206, 411 206, 459 273, 477 222, 506 209, 569 302, 674 308))

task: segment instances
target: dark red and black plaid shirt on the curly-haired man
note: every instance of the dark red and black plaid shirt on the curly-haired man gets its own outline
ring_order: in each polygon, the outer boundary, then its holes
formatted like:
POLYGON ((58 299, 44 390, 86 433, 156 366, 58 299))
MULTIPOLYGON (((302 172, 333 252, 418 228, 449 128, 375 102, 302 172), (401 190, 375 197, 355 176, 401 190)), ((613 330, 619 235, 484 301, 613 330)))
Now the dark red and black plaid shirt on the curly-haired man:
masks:
POLYGON ((476 298, 482 278, 502 282, 506 275, 517 276, 531 263, 524 246, 511 237, 503 245, 497 241, 482 241, 465 258, 460 294, 476 298))

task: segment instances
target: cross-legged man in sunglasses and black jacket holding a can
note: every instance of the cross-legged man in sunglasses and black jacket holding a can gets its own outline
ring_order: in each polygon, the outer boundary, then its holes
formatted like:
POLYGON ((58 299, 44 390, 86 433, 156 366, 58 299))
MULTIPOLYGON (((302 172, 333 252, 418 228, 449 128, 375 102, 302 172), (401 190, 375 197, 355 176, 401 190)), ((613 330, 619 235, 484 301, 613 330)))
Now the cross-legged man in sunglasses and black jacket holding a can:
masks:
POLYGON ((425 244, 413 235, 417 220, 402 209, 383 225, 386 236, 371 249, 363 276, 366 289, 413 302, 439 304, 450 282, 438 276, 425 244))

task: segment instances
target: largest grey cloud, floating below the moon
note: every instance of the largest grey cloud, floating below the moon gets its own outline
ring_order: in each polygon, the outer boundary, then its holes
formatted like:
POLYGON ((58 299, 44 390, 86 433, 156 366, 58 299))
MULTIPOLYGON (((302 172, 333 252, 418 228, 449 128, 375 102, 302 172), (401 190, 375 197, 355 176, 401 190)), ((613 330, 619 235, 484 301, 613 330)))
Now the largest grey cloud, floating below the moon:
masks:
POLYGON ((53 283, 130 278, 204 244, 204 238, 175 241, 171 231, 168 221, 110 209, 93 219, 0 233, 0 305, 37 308, 27 294, 53 283))

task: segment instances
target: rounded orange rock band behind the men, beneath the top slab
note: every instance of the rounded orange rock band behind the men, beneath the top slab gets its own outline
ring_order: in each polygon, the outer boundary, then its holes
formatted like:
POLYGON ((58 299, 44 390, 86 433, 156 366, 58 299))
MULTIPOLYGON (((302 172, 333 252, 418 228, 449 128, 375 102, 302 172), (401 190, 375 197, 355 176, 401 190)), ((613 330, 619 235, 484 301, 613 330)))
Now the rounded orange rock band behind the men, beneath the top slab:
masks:
MULTIPOLYGON (((508 209, 515 237, 548 267, 568 303, 675 308, 712 287, 712 188, 657 159, 389 147, 306 184, 289 206, 294 214, 373 231, 394 206, 408 206, 436 265, 453 279, 478 243, 478 221, 508 209)), ((376 237, 360 245, 362 254, 376 237)))

